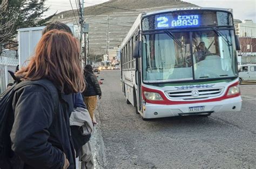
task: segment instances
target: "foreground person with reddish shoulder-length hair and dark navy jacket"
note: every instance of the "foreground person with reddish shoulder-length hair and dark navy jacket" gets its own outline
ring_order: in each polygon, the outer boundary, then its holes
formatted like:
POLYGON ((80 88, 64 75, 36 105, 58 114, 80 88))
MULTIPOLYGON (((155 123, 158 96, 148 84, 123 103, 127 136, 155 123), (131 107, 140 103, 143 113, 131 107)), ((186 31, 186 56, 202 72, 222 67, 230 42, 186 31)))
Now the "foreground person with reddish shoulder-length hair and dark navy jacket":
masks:
POLYGON ((10 136, 12 150, 23 161, 22 168, 75 169, 69 117, 73 111, 72 93, 85 89, 77 40, 64 31, 45 33, 29 65, 16 76, 22 80, 48 79, 59 91, 58 111, 51 94, 42 86, 26 85, 15 92, 10 136))

